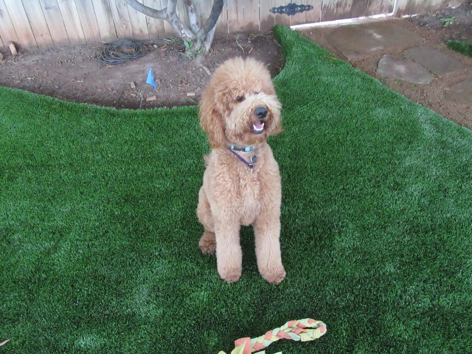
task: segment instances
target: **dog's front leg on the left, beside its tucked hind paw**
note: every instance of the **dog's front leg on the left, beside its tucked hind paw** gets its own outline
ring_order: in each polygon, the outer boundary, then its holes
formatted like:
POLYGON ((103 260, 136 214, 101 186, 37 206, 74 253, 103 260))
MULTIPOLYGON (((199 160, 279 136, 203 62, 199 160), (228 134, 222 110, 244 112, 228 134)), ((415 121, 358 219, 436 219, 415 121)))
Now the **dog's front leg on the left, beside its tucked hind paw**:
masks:
POLYGON ((216 263, 221 279, 233 283, 241 278, 243 252, 239 244, 239 223, 215 222, 216 263))

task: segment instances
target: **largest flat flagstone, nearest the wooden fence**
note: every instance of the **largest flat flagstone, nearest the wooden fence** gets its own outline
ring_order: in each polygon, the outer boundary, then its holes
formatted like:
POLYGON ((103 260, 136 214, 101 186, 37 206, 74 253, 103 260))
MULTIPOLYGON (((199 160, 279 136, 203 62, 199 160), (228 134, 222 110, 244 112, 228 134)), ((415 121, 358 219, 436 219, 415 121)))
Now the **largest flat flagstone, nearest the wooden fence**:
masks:
POLYGON ((392 45, 421 42, 422 38, 405 28, 375 22, 338 27, 331 31, 328 40, 347 59, 351 60, 392 45))

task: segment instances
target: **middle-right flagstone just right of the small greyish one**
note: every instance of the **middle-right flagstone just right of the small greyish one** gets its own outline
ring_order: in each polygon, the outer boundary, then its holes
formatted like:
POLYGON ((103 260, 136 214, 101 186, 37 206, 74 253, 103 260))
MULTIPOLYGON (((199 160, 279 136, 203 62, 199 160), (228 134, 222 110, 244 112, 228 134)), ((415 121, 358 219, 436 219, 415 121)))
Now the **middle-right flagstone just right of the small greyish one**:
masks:
POLYGON ((454 57, 430 47, 410 48, 404 51, 403 54, 422 66, 427 67, 428 70, 438 76, 468 68, 467 65, 454 57))

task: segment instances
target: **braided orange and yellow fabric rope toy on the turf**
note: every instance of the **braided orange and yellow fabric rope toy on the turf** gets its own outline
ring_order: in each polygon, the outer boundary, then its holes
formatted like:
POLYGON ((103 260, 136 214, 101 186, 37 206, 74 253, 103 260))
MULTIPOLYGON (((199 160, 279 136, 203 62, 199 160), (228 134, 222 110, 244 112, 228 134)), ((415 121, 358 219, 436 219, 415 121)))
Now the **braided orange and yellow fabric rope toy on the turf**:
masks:
MULTIPOLYGON (((293 339, 295 341, 308 342, 318 339, 326 333, 326 325, 321 321, 311 318, 303 320, 288 321, 280 328, 266 332, 265 335, 255 338, 239 338, 235 340, 235 347, 231 354, 251 354, 258 350, 265 349, 270 344, 277 342, 281 338, 293 339)), ((218 354, 226 354, 220 351, 218 354)), ((258 354, 265 354, 265 351, 258 354)), ((282 354, 281 352, 276 354, 282 354)))

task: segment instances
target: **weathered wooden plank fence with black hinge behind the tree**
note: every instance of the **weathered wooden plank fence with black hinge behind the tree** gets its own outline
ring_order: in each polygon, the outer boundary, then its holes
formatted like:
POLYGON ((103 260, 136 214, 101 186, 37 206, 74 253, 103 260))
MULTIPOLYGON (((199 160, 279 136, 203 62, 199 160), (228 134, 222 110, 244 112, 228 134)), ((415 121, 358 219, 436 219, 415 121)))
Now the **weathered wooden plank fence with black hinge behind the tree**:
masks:
MULTIPOLYGON (((167 0, 139 0, 152 8, 165 8, 167 0)), ((213 0, 195 0, 202 21, 210 15, 213 0)), ((274 15, 271 8, 290 0, 225 0, 218 19, 217 36, 268 32, 275 24, 299 25, 343 18, 386 14, 395 0, 297 0, 313 8, 293 16, 274 15)), ((396 15, 417 14, 458 6, 469 0, 398 0, 396 15)), ((188 17, 183 0, 177 13, 188 17)), ((146 40, 175 35, 164 20, 151 18, 123 0, 0 0, 0 46, 9 41, 23 47, 112 42, 117 38, 146 40)))

